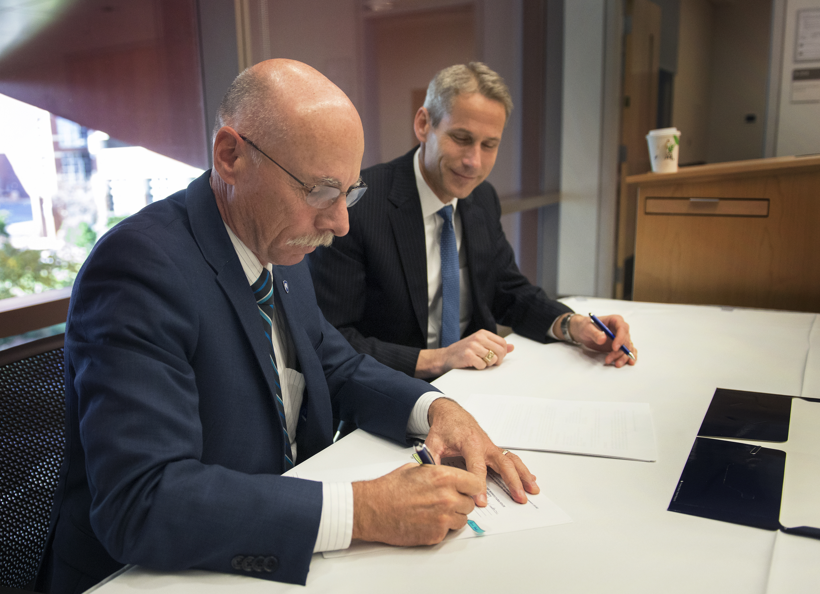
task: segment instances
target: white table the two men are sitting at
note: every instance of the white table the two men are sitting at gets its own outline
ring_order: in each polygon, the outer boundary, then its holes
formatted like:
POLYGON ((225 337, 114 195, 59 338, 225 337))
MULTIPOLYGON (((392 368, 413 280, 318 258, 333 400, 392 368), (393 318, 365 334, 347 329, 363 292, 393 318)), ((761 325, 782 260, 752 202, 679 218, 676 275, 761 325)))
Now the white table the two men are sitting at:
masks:
MULTIPOLYGON (((820 541, 667 511, 715 388, 820 397, 820 315, 564 301, 579 312, 623 315, 640 363, 616 370, 604 367, 597 354, 512 336, 516 350, 503 365, 454 370, 435 386, 456 397, 649 402, 655 463, 519 452, 572 524, 339 559, 314 555, 307 589, 205 571, 128 567, 97 592, 820 592, 820 541)), ((790 454, 818 450, 820 403, 795 400, 798 410, 790 441, 767 447, 790 454)), ((402 449, 358 430, 305 467, 395 460, 402 449)), ((820 473, 800 478, 799 487, 818 493, 814 505, 820 506, 820 473)))

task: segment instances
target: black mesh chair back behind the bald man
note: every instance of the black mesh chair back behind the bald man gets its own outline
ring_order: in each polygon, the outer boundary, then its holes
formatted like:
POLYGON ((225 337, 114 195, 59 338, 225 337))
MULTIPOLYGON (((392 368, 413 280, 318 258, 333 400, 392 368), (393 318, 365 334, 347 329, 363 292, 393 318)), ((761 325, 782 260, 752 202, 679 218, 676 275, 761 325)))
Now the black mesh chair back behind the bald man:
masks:
POLYGON ((65 444, 64 341, 0 351, 2 586, 29 585, 43 555, 65 444))

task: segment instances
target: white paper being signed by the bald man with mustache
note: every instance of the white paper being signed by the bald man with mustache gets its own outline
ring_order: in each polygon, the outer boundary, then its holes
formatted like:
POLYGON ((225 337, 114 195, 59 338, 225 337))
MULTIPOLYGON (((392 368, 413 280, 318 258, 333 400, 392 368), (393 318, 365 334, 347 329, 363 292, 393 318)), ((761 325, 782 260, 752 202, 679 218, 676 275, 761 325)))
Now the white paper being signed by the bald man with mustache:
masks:
MULTIPOLYGON (((413 461, 415 463, 412 459, 407 461, 413 461)), ((364 481, 384 476, 405 463, 405 461, 383 462, 353 468, 316 471, 300 470, 299 467, 296 466, 286 472, 285 476, 327 482, 364 481)), ((464 460, 462 458, 445 458, 442 460, 442 463, 465 469, 464 460)), ((487 473, 487 506, 476 506, 476 508, 467 515, 467 519, 472 520, 481 530, 484 530, 484 533, 476 533, 467 525, 459 530, 450 530, 447 536, 444 537, 444 541, 486 537, 492 536, 493 534, 517 532, 518 530, 529 530, 530 528, 544 528, 546 526, 569 524, 572 522, 572 518, 570 518, 564 510, 555 505, 543 492, 538 495, 527 493, 527 502, 525 504, 512 501, 507 486, 492 470, 487 473)), ((325 551, 322 555, 328 559, 348 555, 362 555, 363 553, 389 548, 391 548, 390 545, 385 545, 381 542, 354 540, 347 549, 341 551, 325 551)))

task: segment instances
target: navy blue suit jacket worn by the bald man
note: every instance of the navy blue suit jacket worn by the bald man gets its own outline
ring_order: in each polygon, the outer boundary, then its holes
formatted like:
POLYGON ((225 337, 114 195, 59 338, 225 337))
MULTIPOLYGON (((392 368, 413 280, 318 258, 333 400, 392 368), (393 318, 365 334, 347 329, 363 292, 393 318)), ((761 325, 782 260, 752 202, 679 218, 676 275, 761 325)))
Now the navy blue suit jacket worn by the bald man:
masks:
MULTIPOLYGON (((236 555, 276 557, 259 578, 307 577, 321 483, 278 476, 270 343, 209 173, 106 234, 71 294, 48 553, 96 579, 127 563, 245 574, 236 555)), ((354 351, 321 315, 307 265, 273 275, 305 376, 297 461, 330 445, 333 417, 403 441, 435 388, 354 351)))

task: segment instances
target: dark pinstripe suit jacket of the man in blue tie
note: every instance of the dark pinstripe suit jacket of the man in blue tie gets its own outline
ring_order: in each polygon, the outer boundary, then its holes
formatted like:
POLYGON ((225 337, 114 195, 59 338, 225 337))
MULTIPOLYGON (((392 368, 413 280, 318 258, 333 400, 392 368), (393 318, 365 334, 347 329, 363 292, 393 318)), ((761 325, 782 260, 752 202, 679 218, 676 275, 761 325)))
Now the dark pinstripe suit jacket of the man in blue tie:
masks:
MULTIPOLYGON (((412 375, 427 347, 427 258, 424 221, 412 157, 362 171, 369 186, 349 209, 350 232, 309 256, 325 317, 360 353, 412 375)), ((572 311, 532 285, 515 263, 501 229, 495 189, 483 182, 458 202, 462 249, 467 250, 472 320, 467 336, 496 323, 549 342, 558 315, 572 311)))

